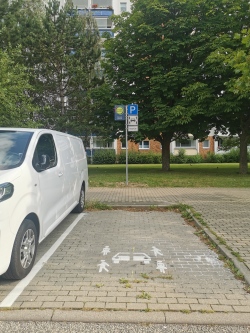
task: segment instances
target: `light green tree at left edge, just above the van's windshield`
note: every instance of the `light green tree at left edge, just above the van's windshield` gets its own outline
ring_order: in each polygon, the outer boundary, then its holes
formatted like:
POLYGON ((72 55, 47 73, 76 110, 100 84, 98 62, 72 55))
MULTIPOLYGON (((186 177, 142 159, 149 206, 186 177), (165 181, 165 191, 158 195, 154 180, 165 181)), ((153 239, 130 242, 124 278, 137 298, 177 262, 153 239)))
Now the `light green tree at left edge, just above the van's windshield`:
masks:
POLYGON ((33 121, 31 89, 26 68, 16 62, 19 51, 0 49, 0 126, 36 127, 33 121))

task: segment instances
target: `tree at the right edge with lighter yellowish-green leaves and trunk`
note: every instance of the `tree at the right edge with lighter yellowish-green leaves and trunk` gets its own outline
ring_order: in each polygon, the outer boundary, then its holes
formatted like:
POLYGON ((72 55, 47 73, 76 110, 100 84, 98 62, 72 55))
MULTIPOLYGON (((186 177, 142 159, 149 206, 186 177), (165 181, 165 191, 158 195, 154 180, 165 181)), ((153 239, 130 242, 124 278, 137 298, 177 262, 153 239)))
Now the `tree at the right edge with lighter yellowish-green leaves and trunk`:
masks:
POLYGON ((246 1, 233 2, 231 29, 217 36, 216 51, 204 62, 206 80, 200 80, 185 91, 191 103, 206 105, 218 132, 238 135, 241 174, 248 172, 247 146, 250 140, 247 13, 249 4, 246 1), (241 33, 242 26, 245 30, 241 33), (197 95, 200 97, 198 102, 195 100, 197 95))

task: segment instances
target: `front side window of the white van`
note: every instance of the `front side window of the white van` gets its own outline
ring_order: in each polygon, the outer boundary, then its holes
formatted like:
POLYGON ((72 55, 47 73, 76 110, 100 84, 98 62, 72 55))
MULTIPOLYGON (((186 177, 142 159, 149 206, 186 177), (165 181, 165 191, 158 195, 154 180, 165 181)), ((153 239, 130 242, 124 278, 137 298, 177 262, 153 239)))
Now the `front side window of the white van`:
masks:
POLYGON ((39 138, 32 165, 38 172, 53 168, 57 165, 56 147, 51 134, 43 134, 39 138))

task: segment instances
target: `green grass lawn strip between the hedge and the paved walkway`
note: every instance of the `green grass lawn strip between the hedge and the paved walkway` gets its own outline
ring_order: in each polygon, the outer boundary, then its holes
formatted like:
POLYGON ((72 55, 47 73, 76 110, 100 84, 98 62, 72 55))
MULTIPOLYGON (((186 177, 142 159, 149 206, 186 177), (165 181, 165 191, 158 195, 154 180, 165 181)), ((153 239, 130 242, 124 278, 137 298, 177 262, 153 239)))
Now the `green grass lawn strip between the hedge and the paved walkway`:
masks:
MULTIPOLYGON (((250 187, 250 174, 240 175, 238 163, 172 164, 163 172, 160 164, 129 164, 129 186, 138 187, 250 187)), ((126 166, 89 165, 90 187, 126 185, 126 166)))

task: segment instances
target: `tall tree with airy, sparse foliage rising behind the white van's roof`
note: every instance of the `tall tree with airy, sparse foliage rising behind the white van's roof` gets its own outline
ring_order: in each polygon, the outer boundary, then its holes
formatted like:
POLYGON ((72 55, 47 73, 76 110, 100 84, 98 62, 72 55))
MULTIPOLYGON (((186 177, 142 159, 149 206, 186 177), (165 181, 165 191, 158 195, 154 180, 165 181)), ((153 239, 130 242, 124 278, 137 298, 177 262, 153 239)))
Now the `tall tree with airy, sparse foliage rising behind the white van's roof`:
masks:
POLYGON ((91 121, 90 91, 100 38, 94 19, 79 16, 73 5, 45 8, 41 31, 29 50, 34 58, 34 99, 44 126, 82 134, 91 121))

